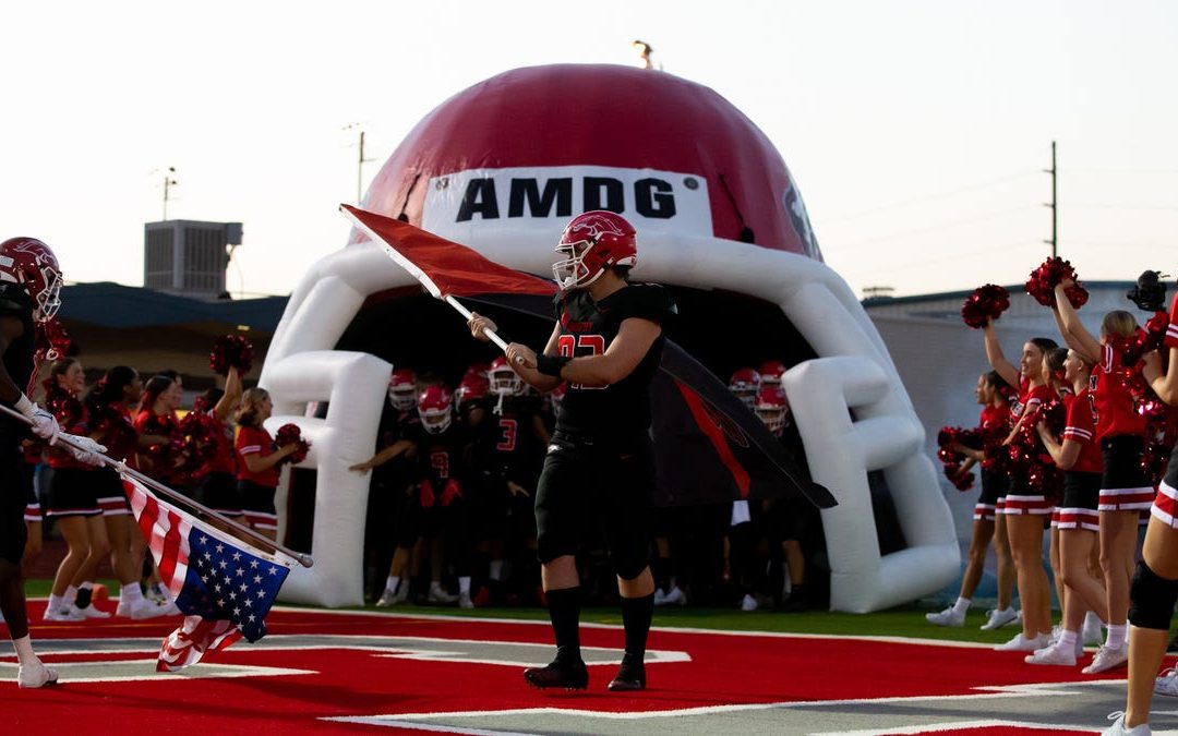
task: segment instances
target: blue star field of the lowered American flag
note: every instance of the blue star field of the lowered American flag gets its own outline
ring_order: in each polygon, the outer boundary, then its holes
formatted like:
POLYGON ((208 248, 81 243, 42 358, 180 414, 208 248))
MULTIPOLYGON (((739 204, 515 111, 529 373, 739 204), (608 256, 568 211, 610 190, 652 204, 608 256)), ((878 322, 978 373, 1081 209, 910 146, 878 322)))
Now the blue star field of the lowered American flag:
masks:
POLYGON ((176 605, 190 616, 227 618, 256 642, 266 635, 266 614, 289 572, 284 565, 193 526, 188 571, 176 605))

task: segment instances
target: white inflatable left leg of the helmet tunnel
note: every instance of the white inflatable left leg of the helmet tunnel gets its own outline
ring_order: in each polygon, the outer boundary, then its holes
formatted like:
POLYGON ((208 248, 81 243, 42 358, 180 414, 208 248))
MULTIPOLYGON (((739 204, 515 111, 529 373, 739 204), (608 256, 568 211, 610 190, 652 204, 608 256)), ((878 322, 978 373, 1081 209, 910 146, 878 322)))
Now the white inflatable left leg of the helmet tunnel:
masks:
MULTIPOLYGON (((266 422, 271 432, 294 423, 311 440, 299 468, 315 469, 316 498, 311 556, 315 566, 296 568, 280 598, 320 605, 363 605, 364 518, 370 473, 348 470, 371 457, 383 398, 389 386, 386 360, 344 351, 307 351, 266 362, 264 387, 282 397, 282 411, 266 422), (327 416, 302 416, 307 402, 329 402, 327 416)), ((283 472, 276 506, 285 509, 290 471, 283 472)), ((286 515, 279 515, 279 535, 286 515)), ((280 537, 279 537, 280 538, 280 537)))

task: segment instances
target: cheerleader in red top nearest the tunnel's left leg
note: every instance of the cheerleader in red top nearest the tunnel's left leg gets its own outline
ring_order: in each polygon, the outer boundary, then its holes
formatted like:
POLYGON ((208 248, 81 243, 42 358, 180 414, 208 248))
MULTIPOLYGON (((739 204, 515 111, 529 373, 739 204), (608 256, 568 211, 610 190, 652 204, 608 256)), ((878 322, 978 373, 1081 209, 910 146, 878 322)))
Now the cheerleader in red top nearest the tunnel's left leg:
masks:
POLYGON ((294 443, 274 447, 274 438, 263 426, 273 410, 274 403, 265 389, 250 389, 241 394, 237 440, 233 443, 239 460, 237 488, 245 520, 271 539, 278 537, 274 490, 278 488, 279 464, 298 449, 294 443))

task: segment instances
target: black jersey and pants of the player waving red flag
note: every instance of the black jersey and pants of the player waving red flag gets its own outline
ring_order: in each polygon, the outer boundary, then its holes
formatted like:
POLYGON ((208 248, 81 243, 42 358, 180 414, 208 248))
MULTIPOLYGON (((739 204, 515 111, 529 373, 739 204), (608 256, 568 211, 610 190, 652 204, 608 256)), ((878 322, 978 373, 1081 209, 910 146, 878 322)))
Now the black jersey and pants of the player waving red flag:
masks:
MULTIPOLYGON (((655 284, 627 284, 600 303, 585 290, 562 292, 554 304, 557 346, 564 357, 603 353, 626 319, 647 319, 666 331, 675 314, 670 292, 655 284)), ((655 485, 650 380, 662 357, 664 331, 616 384, 569 384, 536 489, 542 563, 575 555, 587 525, 594 523, 604 525, 610 563, 620 577, 633 579, 646 569, 655 485)))

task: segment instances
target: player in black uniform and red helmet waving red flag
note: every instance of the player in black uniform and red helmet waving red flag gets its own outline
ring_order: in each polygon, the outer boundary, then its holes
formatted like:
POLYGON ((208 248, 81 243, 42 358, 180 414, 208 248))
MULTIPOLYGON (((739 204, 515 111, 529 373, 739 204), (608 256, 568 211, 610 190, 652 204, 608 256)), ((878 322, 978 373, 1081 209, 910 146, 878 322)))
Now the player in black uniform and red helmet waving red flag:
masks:
MULTIPOLYGON (((654 489, 650 447, 650 380, 659 367, 663 329, 675 314, 670 292, 630 284, 637 238, 626 218, 605 211, 580 214, 565 226, 552 266, 561 289, 556 326, 541 354, 508 346, 508 363, 540 391, 569 382, 556 432, 536 489, 537 551, 556 658, 524 670, 537 688, 583 689, 589 672, 581 658, 578 542, 590 522, 604 526, 617 575, 626 628, 626 655, 610 690, 641 690, 647 635, 654 612, 649 557, 649 498, 654 489)), ((470 330, 494 323, 474 314, 470 330)))

